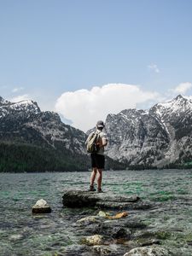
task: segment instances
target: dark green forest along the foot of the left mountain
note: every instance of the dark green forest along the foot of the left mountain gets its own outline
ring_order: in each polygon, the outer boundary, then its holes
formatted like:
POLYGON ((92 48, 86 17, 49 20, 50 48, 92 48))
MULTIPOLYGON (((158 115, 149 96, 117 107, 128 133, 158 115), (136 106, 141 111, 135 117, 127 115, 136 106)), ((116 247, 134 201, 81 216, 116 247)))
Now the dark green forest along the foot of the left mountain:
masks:
POLYGON ((67 150, 0 143, 0 172, 74 172, 88 168, 87 156, 73 155, 67 150))

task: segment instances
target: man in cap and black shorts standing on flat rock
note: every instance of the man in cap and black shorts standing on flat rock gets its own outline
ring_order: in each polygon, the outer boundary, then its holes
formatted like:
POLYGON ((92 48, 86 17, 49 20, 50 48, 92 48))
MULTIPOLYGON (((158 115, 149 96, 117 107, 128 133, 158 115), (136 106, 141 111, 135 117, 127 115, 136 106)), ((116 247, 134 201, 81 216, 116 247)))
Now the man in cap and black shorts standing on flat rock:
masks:
POLYGON ((86 143, 90 141, 90 138, 96 134, 96 152, 90 153, 92 172, 90 175, 90 191, 96 191, 94 188, 94 182, 97 176, 97 192, 102 191, 102 170, 105 166, 104 148, 108 145, 108 138, 106 133, 102 130, 105 127, 103 121, 96 123, 96 131, 92 131, 86 140, 86 143))

